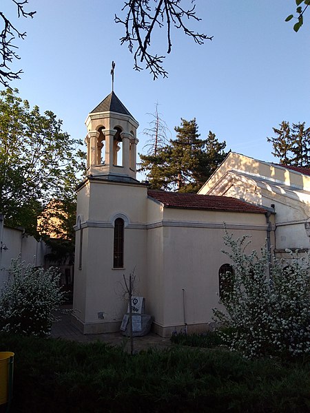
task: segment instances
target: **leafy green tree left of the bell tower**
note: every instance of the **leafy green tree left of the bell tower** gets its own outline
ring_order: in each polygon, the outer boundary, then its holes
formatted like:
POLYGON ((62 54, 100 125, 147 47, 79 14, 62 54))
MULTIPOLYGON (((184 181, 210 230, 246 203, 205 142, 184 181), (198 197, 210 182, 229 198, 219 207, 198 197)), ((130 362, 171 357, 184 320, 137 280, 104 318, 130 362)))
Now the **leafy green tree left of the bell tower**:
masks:
POLYGON ((38 235, 37 217, 53 200, 61 205, 58 218, 65 228, 83 169, 81 140, 61 131, 53 112, 30 109, 17 89, 0 92, 0 114, 0 211, 6 224, 38 235))

